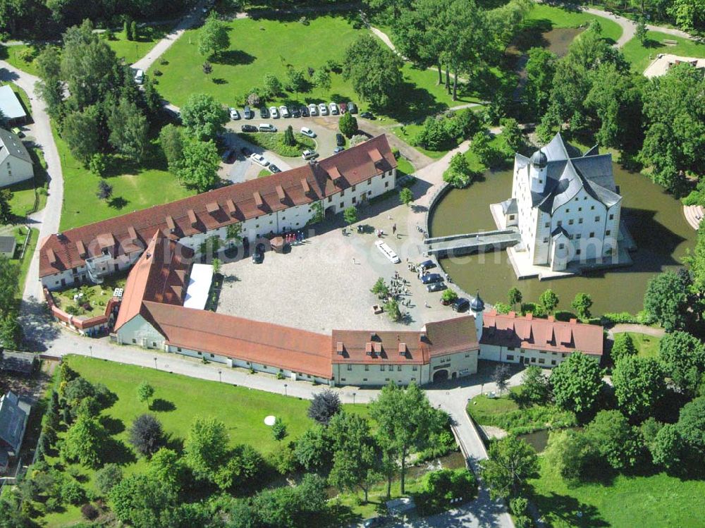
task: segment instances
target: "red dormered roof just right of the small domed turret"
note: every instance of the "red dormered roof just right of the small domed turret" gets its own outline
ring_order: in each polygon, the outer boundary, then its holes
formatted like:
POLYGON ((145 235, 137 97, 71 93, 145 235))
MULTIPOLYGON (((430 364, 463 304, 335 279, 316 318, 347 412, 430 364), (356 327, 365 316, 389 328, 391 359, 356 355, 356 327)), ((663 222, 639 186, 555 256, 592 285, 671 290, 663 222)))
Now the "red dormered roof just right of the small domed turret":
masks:
POLYGON ((601 326, 582 324, 575 319, 568 322, 535 319, 532 314, 519 317, 514 312, 498 314, 491 311, 482 319, 483 345, 546 350, 547 352, 603 353, 601 326))

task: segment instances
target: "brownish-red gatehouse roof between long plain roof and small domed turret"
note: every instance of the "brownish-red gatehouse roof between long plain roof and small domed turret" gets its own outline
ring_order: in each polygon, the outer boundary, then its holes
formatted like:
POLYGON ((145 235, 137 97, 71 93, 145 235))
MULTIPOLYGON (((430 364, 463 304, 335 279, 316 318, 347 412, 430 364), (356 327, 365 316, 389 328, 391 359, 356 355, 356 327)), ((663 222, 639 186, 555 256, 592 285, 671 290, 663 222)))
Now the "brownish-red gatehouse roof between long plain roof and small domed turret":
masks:
POLYGON ((333 330, 333 364, 427 364, 431 357, 477 350, 475 319, 456 317, 425 331, 333 330))

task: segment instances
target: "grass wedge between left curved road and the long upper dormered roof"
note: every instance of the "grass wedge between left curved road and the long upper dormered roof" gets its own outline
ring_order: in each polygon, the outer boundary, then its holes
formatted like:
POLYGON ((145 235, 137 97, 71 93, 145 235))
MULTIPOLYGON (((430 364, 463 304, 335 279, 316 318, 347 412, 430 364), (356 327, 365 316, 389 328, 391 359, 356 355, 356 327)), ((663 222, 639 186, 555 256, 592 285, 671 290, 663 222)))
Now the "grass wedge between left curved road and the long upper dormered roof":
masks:
POLYGON ((178 183, 176 176, 166 171, 163 160, 148 155, 143 166, 122 159, 109 163, 116 173, 106 178, 113 186, 113 196, 106 202, 95 194, 100 178, 73 158, 55 129, 54 140, 59 149, 64 180, 61 231, 193 194, 178 183))

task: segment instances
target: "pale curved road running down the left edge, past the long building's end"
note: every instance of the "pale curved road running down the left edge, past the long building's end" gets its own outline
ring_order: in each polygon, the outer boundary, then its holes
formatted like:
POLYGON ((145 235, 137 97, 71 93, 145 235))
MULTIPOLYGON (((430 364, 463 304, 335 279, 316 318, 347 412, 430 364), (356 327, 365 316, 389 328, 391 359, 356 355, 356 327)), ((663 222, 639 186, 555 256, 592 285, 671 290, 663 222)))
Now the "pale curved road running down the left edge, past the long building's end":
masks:
MULTIPOLYGON (((49 189, 47 195, 47 205, 42 211, 37 211, 30 215, 27 222, 33 228, 39 229, 39 240, 59 232, 59 220, 61 219, 61 205, 63 204, 63 173, 61 172, 61 161, 59 152, 56 150, 54 136, 51 135, 51 125, 44 102, 39 99, 35 92, 35 84, 39 78, 22 70, 11 66, 5 61, 0 61, 0 79, 11 80, 20 88, 27 92, 32 107, 31 125, 35 135, 35 142, 39 149, 42 149, 44 160, 47 161, 47 174, 49 175, 49 189)), ((39 244, 37 244, 37 248, 39 244)), ((27 272, 23 299, 30 297, 40 298, 42 288, 39 285, 39 251, 35 250, 31 257, 30 269, 27 272)))

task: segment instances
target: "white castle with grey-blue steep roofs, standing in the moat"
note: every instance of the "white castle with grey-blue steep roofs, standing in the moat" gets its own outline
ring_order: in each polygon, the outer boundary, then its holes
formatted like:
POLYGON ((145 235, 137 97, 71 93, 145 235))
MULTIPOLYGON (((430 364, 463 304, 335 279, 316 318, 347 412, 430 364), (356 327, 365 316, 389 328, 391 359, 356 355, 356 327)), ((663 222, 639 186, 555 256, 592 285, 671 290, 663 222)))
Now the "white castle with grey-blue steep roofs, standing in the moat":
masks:
POLYGON ((527 158, 515 155, 512 197, 501 204, 506 228, 521 242, 510 250, 529 266, 563 271, 618 264, 620 212, 611 154, 580 154, 560 133, 527 158))

